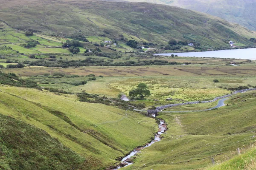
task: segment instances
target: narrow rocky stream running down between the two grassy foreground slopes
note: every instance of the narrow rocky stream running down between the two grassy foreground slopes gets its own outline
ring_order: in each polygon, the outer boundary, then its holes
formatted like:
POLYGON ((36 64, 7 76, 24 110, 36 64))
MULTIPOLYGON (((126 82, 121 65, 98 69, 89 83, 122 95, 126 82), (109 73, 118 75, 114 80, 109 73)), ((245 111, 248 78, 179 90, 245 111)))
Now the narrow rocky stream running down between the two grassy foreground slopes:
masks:
MULTIPOLYGON (((127 159, 130 159, 131 156, 136 155, 138 152, 140 152, 140 150, 144 149, 145 147, 149 147, 152 144, 154 144, 155 142, 159 142, 161 140, 161 134, 163 134, 167 130, 167 128, 166 128, 166 125, 165 125, 165 123, 162 119, 158 119, 158 120, 160 120, 160 124, 158 125, 158 132, 155 135, 154 140, 152 140, 150 143, 146 144, 144 147, 134 149, 128 156, 125 156, 121 161, 121 162, 124 162, 126 164, 124 167, 127 167, 127 166, 132 164, 131 162, 127 161, 127 159)), ((113 170, 118 170, 120 168, 122 168, 122 167, 119 166, 119 167, 117 167, 116 169, 113 169, 113 170)))

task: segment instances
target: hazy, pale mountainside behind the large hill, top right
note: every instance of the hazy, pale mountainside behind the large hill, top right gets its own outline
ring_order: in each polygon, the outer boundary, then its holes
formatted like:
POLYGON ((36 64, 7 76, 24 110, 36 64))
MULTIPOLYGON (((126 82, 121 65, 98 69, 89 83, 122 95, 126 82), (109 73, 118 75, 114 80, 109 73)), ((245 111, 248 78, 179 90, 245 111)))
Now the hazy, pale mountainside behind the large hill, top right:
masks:
POLYGON ((255 0, 127 0, 178 6, 224 18, 256 30, 255 0))

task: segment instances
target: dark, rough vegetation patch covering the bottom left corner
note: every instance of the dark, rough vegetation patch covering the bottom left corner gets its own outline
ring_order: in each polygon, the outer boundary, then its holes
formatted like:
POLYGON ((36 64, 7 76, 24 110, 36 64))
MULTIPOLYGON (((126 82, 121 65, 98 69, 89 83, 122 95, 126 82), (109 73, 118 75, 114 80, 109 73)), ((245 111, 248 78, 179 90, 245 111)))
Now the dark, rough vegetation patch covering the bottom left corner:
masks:
POLYGON ((0 114, 0 133, 0 169, 88 169, 81 155, 35 126, 0 114))

